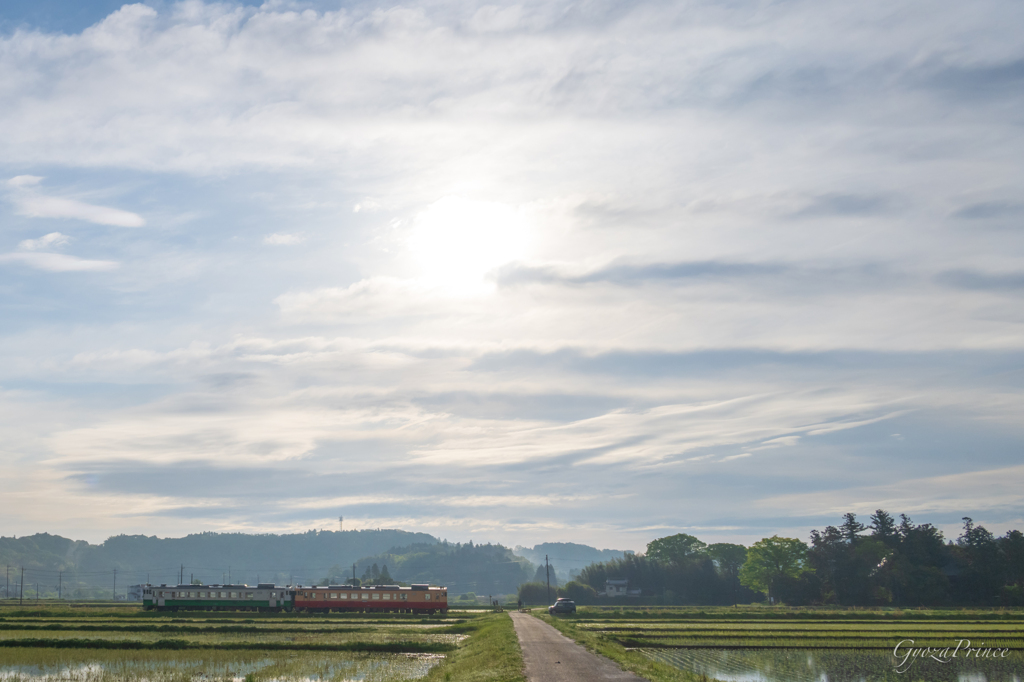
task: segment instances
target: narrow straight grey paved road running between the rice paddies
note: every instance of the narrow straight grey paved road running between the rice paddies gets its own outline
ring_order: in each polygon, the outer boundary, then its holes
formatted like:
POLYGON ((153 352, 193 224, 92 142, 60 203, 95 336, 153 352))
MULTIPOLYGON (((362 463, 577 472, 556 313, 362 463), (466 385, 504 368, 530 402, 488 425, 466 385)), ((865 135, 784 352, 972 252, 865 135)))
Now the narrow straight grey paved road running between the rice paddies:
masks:
POLYGON ((591 653, 571 639, 529 613, 512 611, 515 634, 522 647, 529 682, 593 682, 633 680, 642 677, 627 673, 604 656, 591 653))

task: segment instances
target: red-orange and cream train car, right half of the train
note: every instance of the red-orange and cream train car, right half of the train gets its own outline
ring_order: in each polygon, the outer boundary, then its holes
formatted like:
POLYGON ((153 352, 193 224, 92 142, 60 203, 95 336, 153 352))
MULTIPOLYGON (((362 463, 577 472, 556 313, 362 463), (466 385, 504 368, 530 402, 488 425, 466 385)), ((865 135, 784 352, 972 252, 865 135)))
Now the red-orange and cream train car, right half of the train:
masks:
POLYGON ((330 585, 295 588, 294 608, 307 611, 446 613, 447 588, 429 585, 330 585))

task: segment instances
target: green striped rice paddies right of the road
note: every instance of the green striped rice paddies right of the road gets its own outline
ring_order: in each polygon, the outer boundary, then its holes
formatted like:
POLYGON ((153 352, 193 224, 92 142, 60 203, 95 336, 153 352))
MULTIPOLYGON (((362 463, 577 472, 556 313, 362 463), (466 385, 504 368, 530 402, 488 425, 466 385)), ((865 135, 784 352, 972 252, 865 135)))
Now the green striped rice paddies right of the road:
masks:
POLYGON ((584 607, 559 619, 581 641, 617 644, 725 682, 1021 682, 1024 611, 584 607))

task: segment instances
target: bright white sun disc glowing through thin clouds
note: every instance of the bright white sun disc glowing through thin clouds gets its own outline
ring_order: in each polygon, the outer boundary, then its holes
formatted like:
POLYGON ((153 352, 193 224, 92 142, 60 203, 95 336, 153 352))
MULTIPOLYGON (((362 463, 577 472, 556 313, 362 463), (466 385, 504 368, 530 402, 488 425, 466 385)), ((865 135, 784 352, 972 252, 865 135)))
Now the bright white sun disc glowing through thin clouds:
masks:
POLYGON ((409 247, 424 280, 456 292, 488 289, 488 272, 526 256, 528 221, 505 204, 444 197, 416 216, 409 247))

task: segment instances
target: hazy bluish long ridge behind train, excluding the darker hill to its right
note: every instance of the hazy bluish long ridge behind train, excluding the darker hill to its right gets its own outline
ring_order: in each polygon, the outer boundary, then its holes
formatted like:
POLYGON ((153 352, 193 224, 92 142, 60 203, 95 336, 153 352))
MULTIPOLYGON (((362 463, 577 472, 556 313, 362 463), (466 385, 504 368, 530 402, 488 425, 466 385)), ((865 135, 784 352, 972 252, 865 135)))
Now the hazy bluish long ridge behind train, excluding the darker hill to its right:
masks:
MULTIPOLYGON (((311 584, 333 566, 351 566, 397 546, 429 546, 437 539, 406 530, 309 530, 294 535, 246 535, 202 532, 184 538, 115 536, 100 545, 39 534, 24 538, 0 538, 0 570, 11 573, 26 568, 26 584, 56 584, 63 571, 63 585, 85 588, 118 583, 176 584, 196 578, 207 583, 311 584), (52 579, 52 580, 51 580, 52 579)), ((19 574, 19 573, 18 573, 19 574)))

